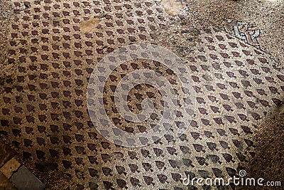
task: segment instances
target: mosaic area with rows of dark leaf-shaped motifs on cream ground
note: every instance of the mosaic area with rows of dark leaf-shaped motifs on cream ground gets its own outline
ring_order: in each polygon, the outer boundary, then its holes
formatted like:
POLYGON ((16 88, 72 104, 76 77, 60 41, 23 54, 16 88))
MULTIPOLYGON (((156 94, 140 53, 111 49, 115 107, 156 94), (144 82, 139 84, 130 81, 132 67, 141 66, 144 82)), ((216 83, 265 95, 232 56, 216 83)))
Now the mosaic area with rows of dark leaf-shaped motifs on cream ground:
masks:
MULTIPOLYGON (((266 53, 206 28, 197 36, 195 51, 182 58, 197 101, 192 122, 175 120, 177 126, 188 125, 187 132, 176 137, 170 130, 147 147, 119 147, 107 142, 89 119, 89 76, 114 49, 153 42, 151 34, 169 21, 159 2, 15 4, 26 9, 15 11, 11 23, 8 62, 15 75, 0 95, 1 136, 35 171, 66 174, 77 189, 197 189, 182 185, 182 178, 237 174, 239 162, 254 155, 250 137, 256 123, 283 98, 284 75, 266 53), (80 23, 94 16, 102 18, 99 26, 82 33, 80 23)), ((145 67, 175 80, 165 65, 137 60, 111 73, 106 88, 111 90, 124 73, 145 67)), ((141 85, 129 93, 133 112, 145 97, 161 107, 158 91, 141 85)), ((104 108, 115 114, 111 96, 106 99, 104 108)))

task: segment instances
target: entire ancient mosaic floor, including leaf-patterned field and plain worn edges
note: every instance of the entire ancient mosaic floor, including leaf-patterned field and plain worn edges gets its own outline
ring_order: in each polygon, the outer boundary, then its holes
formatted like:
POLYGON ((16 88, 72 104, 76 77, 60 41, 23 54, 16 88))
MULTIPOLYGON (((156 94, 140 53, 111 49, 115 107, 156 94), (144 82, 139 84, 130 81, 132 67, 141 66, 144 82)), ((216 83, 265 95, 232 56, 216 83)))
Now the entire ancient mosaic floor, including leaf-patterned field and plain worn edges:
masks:
MULTIPOLYGON (((0 7, 0 134, 9 149, 0 152, 7 154, 0 168, 11 159, 19 163, 6 175, 9 186, 21 189, 13 181, 30 171, 38 186, 26 189, 43 189, 40 181, 45 189, 249 189, 182 182, 187 176, 229 179, 241 170, 284 179, 283 1, 34 0, 1 1, 0 7), (88 85, 104 56, 139 43, 175 53, 194 95, 174 68, 131 54, 133 60, 106 76, 99 88, 103 105, 93 108, 123 131, 151 130, 168 101, 153 86, 135 85, 125 96, 134 114, 142 112, 143 100, 153 102, 146 122, 129 122, 116 109, 119 81, 138 70, 168 80, 178 107, 160 139, 157 131, 148 137, 151 144, 124 147, 104 138, 97 127, 104 121, 91 120, 87 93, 99 90, 88 85)), ((107 132, 122 141, 116 130, 107 132)))

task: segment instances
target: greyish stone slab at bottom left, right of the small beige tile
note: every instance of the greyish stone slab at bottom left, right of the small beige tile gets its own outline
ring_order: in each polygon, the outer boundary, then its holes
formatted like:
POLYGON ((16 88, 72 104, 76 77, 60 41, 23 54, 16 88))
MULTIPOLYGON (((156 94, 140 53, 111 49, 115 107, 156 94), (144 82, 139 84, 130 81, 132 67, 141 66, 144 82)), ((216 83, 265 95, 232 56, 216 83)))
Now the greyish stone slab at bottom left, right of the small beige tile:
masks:
POLYGON ((29 171, 25 166, 21 166, 18 171, 11 176, 10 181, 18 190, 42 190, 44 184, 29 171))

